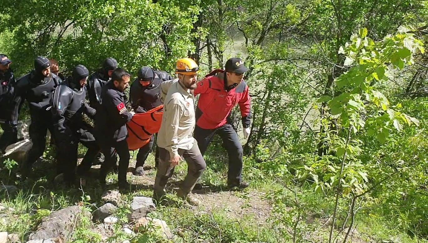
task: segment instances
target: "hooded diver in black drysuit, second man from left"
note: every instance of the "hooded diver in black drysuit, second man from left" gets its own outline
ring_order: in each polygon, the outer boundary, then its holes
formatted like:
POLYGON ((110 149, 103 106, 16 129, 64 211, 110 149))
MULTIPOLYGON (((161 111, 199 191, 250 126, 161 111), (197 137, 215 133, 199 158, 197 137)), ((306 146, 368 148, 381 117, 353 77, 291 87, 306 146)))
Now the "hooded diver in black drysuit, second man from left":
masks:
POLYGON ((42 156, 46 147, 46 133, 49 129, 54 136, 50 107, 52 92, 61 83, 61 79, 51 73, 51 63, 45 56, 34 59, 34 70, 21 77, 15 86, 14 101, 12 102, 14 116, 18 117, 19 110, 25 100, 30 108, 30 139, 33 146, 28 152, 27 159, 21 165, 22 177, 27 177, 33 163, 42 156))

